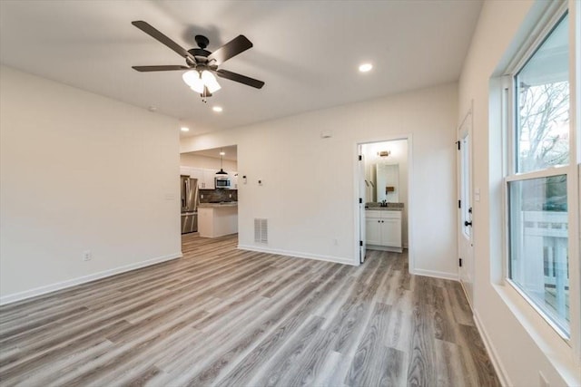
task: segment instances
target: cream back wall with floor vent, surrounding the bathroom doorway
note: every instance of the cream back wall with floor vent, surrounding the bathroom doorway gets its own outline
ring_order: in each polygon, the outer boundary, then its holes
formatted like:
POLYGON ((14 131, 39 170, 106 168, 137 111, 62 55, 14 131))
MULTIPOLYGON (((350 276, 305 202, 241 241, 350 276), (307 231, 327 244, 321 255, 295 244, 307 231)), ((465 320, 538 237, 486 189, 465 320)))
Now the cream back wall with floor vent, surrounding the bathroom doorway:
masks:
POLYGON ((409 245, 415 271, 457 277, 457 86, 188 138, 181 151, 238 145, 241 247, 356 264, 357 143, 410 134, 409 245), (332 137, 322 139, 321 131, 332 137), (426 195, 434 187, 439 194, 426 195), (253 241, 254 218, 269 219, 266 247, 253 241))

